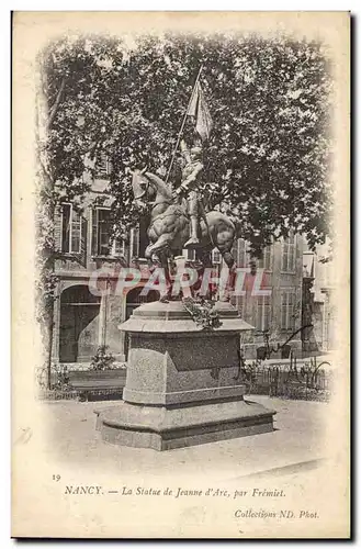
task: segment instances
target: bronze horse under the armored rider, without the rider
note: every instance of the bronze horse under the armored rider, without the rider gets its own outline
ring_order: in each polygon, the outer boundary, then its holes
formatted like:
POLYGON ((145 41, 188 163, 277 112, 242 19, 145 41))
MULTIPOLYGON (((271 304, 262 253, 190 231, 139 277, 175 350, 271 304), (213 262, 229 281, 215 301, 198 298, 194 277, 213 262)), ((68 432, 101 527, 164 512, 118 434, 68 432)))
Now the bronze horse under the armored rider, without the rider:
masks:
MULTIPOLYGON (((171 184, 147 171, 147 168, 131 173, 135 203, 142 209, 151 208, 147 231, 150 244, 145 251, 146 258, 155 265, 160 264, 167 272, 168 259, 181 253, 190 237, 187 201, 177 199, 171 184)), ((217 248, 232 269, 235 260, 230 250, 235 237, 236 226, 229 217, 218 211, 205 213, 200 222, 200 244, 196 248, 203 266, 211 266, 211 251, 217 248)))

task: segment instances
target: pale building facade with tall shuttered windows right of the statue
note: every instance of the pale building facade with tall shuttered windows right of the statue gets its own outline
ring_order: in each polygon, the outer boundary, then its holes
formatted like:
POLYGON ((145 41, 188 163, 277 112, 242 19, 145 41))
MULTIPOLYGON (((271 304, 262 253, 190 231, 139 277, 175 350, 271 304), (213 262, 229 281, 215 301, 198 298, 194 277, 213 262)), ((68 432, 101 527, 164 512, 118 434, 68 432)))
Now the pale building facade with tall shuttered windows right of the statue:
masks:
POLYGON ((296 356, 302 354, 302 236, 274 243, 263 250, 261 259, 252 259, 242 238, 235 246, 237 267, 246 268, 244 294, 233 299, 240 316, 255 326, 244 337, 247 358, 257 358, 257 349, 264 345, 267 334, 272 348, 283 345, 293 334, 289 345, 296 356))

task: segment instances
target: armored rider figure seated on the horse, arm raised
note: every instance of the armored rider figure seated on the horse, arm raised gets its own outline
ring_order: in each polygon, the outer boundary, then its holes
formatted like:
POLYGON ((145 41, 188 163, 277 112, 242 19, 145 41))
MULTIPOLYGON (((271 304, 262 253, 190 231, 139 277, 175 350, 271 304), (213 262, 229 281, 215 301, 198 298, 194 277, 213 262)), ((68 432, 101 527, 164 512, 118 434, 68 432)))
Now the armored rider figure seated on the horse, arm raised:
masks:
POLYGON ((181 141, 180 148, 185 160, 185 166, 182 170, 182 183, 176 190, 176 194, 184 194, 188 201, 188 212, 191 217, 191 237, 184 244, 184 248, 189 248, 200 244, 198 228, 200 216, 199 201, 201 199, 199 195, 199 188, 203 170, 202 148, 192 147, 189 149, 184 141, 181 141))

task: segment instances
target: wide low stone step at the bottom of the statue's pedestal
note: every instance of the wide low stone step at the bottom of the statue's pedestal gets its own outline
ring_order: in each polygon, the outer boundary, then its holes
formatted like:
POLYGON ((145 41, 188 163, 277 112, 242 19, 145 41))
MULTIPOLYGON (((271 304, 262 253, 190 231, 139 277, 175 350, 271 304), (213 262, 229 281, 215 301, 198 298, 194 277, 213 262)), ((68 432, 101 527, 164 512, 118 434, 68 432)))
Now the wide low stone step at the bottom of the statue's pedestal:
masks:
POLYGON ((97 414, 97 428, 108 442, 170 450, 272 432, 274 412, 238 400, 176 408, 122 402, 97 414))

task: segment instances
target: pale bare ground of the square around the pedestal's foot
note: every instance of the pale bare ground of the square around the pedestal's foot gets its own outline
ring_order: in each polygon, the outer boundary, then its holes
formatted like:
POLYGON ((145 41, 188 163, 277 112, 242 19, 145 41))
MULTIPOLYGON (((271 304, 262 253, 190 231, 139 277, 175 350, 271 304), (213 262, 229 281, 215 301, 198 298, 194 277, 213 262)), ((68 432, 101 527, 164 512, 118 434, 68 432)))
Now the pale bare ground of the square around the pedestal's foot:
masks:
MULTIPOLYGON (((94 410, 114 402, 42 403, 47 415, 46 452, 63 464, 106 468, 122 474, 156 475, 163 480, 195 475, 202 480, 227 480, 252 474, 295 474, 318 464, 325 455, 325 419, 328 404, 291 401, 268 396, 247 396, 277 411, 273 433, 211 442, 190 448, 158 452, 112 446, 100 439, 94 429, 94 410)), ((117 401, 120 402, 120 401, 117 401)))

